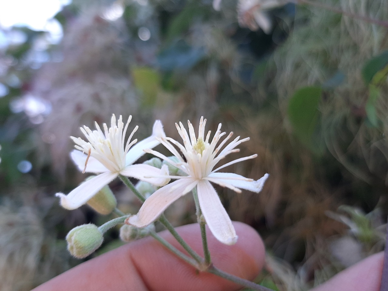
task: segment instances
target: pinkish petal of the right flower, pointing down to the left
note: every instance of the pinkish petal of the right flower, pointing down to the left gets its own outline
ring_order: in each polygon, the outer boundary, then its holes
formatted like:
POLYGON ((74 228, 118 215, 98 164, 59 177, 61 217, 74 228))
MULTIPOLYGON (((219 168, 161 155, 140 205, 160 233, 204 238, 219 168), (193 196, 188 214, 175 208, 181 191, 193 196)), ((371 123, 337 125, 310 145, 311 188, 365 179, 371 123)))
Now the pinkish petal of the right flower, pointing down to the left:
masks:
POLYGON ((192 179, 180 179, 161 187, 145 200, 136 215, 128 218, 128 223, 136 227, 149 225, 157 220, 171 203, 191 191, 196 184, 197 181, 192 179))

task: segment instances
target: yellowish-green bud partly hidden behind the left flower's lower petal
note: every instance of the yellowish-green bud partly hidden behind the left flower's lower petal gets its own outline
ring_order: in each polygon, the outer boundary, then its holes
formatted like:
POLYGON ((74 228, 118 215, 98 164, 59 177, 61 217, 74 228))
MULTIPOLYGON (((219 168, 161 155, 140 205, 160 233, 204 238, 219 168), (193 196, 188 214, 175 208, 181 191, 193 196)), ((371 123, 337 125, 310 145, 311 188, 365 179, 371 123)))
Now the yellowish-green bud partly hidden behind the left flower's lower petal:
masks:
MULTIPOLYGON (((93 177, 95 176, 90 176, 86 178, 86 180, 93 177)), ((117 201, 109 186, 105 185, 99 192, 97 192, 97 194, 88 200, 87 204, 98 213, 108 215, 114 210, 114 208, 116 208, 117 201)))

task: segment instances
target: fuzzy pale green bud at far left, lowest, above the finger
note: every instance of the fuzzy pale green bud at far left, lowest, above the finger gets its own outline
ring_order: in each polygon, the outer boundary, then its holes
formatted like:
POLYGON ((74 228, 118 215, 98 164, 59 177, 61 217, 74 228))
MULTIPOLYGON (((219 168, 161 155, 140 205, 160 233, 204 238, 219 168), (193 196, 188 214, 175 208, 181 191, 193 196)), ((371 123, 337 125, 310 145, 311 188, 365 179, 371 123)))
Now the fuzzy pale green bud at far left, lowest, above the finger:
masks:
POLYGON ((98 249, 104 236, 97 225, 92 223, 79 225, 69 231, 66 236, 68 250, 72 256, 82 259, 98 249))

